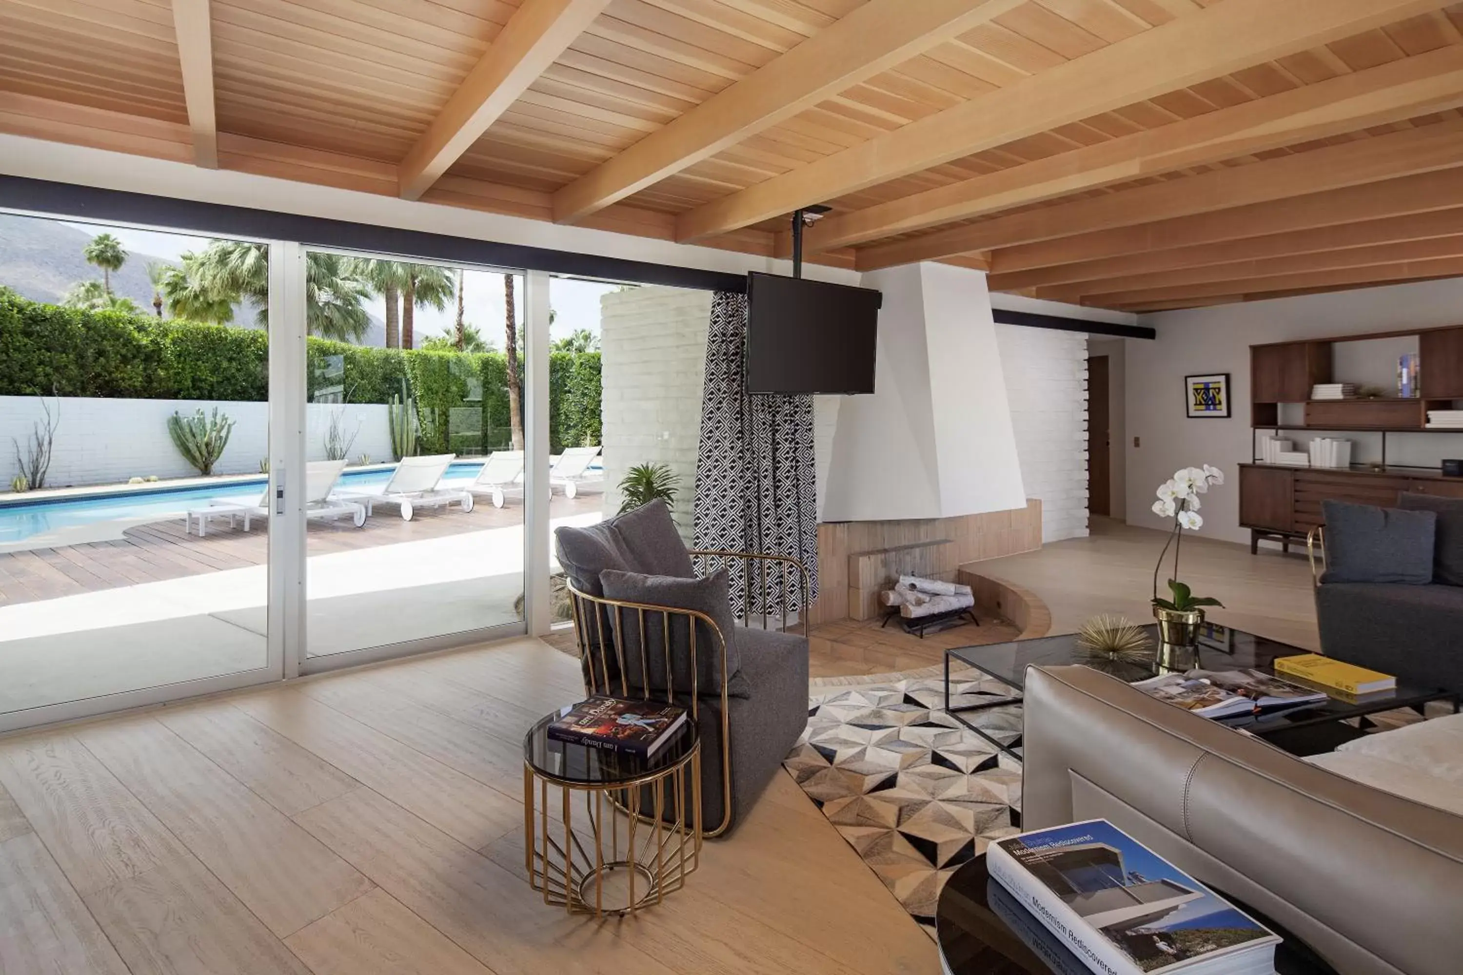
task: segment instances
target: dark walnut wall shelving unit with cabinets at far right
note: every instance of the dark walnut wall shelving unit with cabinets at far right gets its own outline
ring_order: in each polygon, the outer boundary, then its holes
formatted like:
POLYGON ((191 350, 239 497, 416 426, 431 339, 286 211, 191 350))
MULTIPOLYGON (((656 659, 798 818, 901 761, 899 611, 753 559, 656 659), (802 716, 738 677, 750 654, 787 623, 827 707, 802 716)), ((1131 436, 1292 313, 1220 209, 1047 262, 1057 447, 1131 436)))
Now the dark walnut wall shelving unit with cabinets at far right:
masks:
MULTIPOLYGON (((1255 430, 1381 433, 1463 433, 1428 430, 1429 409, 1450 409, 1463 399, 1463 326, 1371 332, 1327 339, 1273 342, 1249 346, 1249 425, 1255 430), (1311 399, 1318 383, 1331 383, 1336 345, 1371 339, 1418 338, 1423 398, 1311 399), (1302 406, 1302 422, 1282 422, 1283 406, 1302 406)), ((1239 469, 1239 523, 1249 529, 1249 550, 1261 538, 1274 538, 1286 550, 1323 523, 1325 500, 1396 506, 1409 493, 1463 498, 1463 478, 1444 478, 1425 468, 1369 466, 1292 468, 1242 463, 1239 469)))

